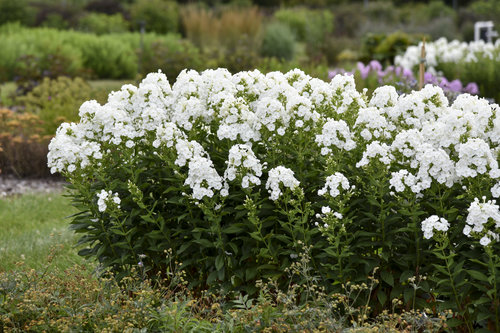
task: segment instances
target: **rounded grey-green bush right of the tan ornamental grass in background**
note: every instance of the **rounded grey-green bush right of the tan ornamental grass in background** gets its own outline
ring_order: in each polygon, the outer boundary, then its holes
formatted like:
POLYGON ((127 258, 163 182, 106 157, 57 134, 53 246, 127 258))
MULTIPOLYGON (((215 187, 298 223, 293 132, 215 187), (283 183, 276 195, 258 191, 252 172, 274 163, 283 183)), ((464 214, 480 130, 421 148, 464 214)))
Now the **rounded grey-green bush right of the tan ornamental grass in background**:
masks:
POLYGON ((260 50, 265 57, 290 60, 295 52, 295 36, 287 25, 271 23, 266 27, 260 50))

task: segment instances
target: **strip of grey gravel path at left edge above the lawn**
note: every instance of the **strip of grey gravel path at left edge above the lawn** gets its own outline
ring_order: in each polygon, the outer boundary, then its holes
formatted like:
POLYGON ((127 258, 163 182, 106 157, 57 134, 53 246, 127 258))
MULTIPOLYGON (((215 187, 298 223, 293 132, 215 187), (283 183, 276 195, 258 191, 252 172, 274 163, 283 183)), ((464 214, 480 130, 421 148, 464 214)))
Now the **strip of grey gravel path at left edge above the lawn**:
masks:
POLYGON ((12 176, 0 176, 0 197, 25 193, 60 192, 66 184, 61 179, 42 178, 24 179, 12 176))

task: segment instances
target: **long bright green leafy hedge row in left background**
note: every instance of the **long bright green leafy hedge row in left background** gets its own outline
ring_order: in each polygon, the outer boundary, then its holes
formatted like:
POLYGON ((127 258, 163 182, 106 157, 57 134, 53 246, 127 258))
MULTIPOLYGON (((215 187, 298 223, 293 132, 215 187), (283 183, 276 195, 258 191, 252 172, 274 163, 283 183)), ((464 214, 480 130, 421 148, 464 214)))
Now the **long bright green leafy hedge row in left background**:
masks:
POLYGON ((135 78, 140 56, 144 58, 144 67, 148 65, 150 70, 165 67, 171 75, 185 67, 196 67, 201 62, 199 51, 176 35, 145 34, 141 48, 139 33, 97 36, 48 28, 17 29, 15 25, 3 30, 5 33, 0 34, 3 47, 0 53, 0 80, 12 80, 23 71, 25 64, 19 61, 22 57, 37 59, 40 71, 51 68, 51 59, 71 59, 64 62, 67 67, 61 72, 71 76, 85 73, 106 79, 135 78), (157 63, 147 63, 152 60, 157 63))

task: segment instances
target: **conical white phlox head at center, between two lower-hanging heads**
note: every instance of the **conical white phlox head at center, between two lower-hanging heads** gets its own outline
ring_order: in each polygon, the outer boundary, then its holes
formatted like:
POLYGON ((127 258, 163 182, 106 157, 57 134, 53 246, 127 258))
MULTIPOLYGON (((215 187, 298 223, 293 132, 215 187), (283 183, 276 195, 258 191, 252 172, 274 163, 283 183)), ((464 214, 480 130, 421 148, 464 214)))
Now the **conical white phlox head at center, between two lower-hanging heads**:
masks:
POLYGON ((242 144, 232 146, 226 163, 225 179, 232 181, 240 174, 242 176, 241 187, 248 188, 251 184, 260 185, 262 164, 255 157, 251 146, 242 144))

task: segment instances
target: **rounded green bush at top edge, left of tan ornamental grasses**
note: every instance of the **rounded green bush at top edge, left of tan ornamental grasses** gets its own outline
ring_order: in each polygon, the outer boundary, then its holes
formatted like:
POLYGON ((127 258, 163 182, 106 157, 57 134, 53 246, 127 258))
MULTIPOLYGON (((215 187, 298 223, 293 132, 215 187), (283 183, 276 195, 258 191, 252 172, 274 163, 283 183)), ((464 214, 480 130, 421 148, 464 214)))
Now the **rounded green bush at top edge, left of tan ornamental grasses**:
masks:
POLYGON ((179 6, 175 1, 137 0, 130 7, 130 16, 134 26, 143 21, 150 32, 177 32, 179 27, 179 6))

